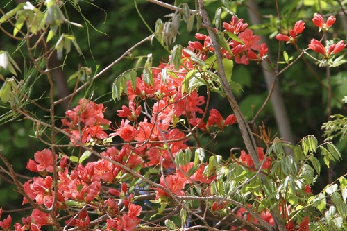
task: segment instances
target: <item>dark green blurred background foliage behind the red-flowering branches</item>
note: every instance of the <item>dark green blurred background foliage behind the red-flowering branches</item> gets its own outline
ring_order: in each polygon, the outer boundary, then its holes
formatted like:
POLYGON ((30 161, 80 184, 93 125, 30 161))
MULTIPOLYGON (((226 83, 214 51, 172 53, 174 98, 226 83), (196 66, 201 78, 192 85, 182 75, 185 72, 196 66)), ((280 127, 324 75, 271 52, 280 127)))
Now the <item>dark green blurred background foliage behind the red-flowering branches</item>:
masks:
MULTIPOLYGON (((243 18, 244 22, 250 24, 251 28, 255 30, 255 34, 262 34, 269 37, 269 52, 273 57, 277 57, 278 54, 278 41, 274 39, 274 36, 279 33, 278 28, 278 18, 276 12, 275 1, 257 1, 260 7, 260 12, 254 12, 263 15, 263 24, 251 25, 249 21, 249 16, 247 12, 247 1, 236 0, 224 2, 230 3, 230 10, 234 11, 239 18, 243 18)), ((35 3, 35 1, 32 1, 35 3)), ((71 22, 76 22, 83 24, 84 28, 73 27, 70 33, 73 33, 76 37, 78 45, 83 51, 83 56, 79 56, 77 52, 72 51, 67 56, 64 54, 63 57, 58 58, 60 65, 63 64, 62 73, 63 78, 68 79, 69 76, 78 71, 79 67, 90 67, 94 73, 96 67, 99 65, 99 70, 107 67, 111 62, 119 58, 127 49, 131 46, 144 39, 144 37, 149 36, 151 33, 148 28, 146 28, 144 22, 142 22, 141 17, 137 13, 135 8, 135 2, 139 12, 142 17, 146 20, 146 23, 154 29, 155 21, 160 18, 164 22, 169 18, 165 18, 171 10, 156 6, 153 3, 148 3, 145 0, 99 0, 99 1, 78 1, 78 6, 81 7, 81 12, 78 12, 76 8, 70 3, 65 4, 63 12, 65 12, 71 22)), ((190 8, 194 8, 194 1, 166 1, 167 3, 188 3, 190 8)), ((207 9, 209 10, 210 18, 214 17, 214 10, 221 6, 221 1, 206 0, 205 1, 207 9)), ((280 15, 282 17, 282 29, 287 30, 294 26, 295 22, 302 19, 306 24, 306 29, 303 35, 298 40, 298 46, 300 48, 306 48, 310 40, 315 37, 320 38, 321 34, 318 33, 318 28, 314 26, 311 19, 314 12, 320 12, 322 8, 323 15, 336 15, 339 13, 339 6, 337 1, 317 1, 317 0, 279 0, 280 15)), ((12 8, 15 8, 16 2, 1 1, 0 7, 4 12, 8 12, 12 8)), ((230 15, 222 14, 225 17, 225 21, 230 20, 230 15)), ((346 39, 346 30, 344 30, 344 21, 346 18, 344 16, 337 16, 337 22, 332 28, 332 33, 329 36, 332 38, 339 37, 342 40, 346 39)), ((4 28, 11 30, 10 25, 3 25, 4 28)), ((187 33, 187 28, 185 24, 180 25, 180 35, 178 35, 176 42, 174 44, 182 44, 187 46, 189 40, 194 41, 194 33, 196 29, 193 29, 190 33, 187 33)), ((205 33, 206 31, 202 28, 199 33, 205 33)), ((281 31, 284 33, 285 31, 281 31)), ((15 58, 16 62, 24 67, 23 56, 26 56, 25 46, 17 47, 17 42, 11 40, 4 33, 0 33, 0 50, 5 50, 11 53, 12 57, 15 58), (23 56, 22 56, 23 55, 23 56)), ((171 45, 171 48, 174 46, 171 45)), ((295 51, 293 46, 286 45, 283 42, 280 43, 282 51, 287 51, 289 56, 298 55, 298 51, 295 51)), ((310 51, 309 51, 310 52, 310 51)), ((121 108, 121 105, 127 100, 126 97, 122 98, 121 102, 113 102, 111 97, 111 87, 112 82, 115 80, 119 74, 124 71, 135 67, 137 62, 137 57, 147 54, 153 54, 153 66, 159 65, 160 60, 167 60, 169 53, 162 49, 159 42, 153 40, 153 43, 146 42, 141 46, 137 47, 131 53, 133 58, 125 58, 121 60, 117 65, 113 66, 109 71, 107 71, 103 76, 98 78, 92 85, 92 91, 81 92, 74 97, 74 100, 69 107, 74 108, 76 102, 81 97, 92 98, 96 100, 96 103, 105 103, 108 107, 105 117, 110 119, 115 126, 115 122, 119 123, 120 119, 117 118, 117 110, 121 108)), ((314 55, 314 53, 312 53, 314 55)), ((283 59, 281 57, 281 59, 283 59)), ((146 60, 146 58, 144 58, 146 60)), ((320 142, 323 142, 321 138, 321 125, 328 120, 327 109, 326 109, 326 91, 321 85, 326 83, 325 69, 318 67, 308 60, 305 63, 303 60, 299 60, 292 67, 289 67, 287 71, 281 74, 278 78, 280 83, 280 92, 285 101, 285 106, 289 114, 289 119, 291 123, 291 129, 294 133, 296 142, 298 142, 305 135, 315 135, 320 142)), ((26 74, 31 73, 33 76, 38 76, 35 73, 35 69, 25 63, 26 70, 22 69, 22 74, 19 74, 19 78, 24 78, 26 74)), ((144 61, 142 63, 144 65, 144 61)), ((285 65, 280 65, 280 69, 284 68, 285 65)), ((347 66, 341 65, 340 67, 333 68, 332 70, 332 94, 334 94, 337 99, 341 101, 343 96, 346 95, 347 89, 347 66)), ((6 74, 2 73, 3 76, 6 74)), ((8 74, 10 77, 10 74, 8 74)), ((60 76, 61 77, 61 76, 60 76)), ((259 110, 262 103, 266 99, 267 89, 264 82, 264 76, 260 65, 251 63, 248 66, 235 65, 234 72, 232 74, 232 79, 242 85, 243 91, 235 92, 237 96, 237 101, 239 102, 244 114, 248 119, 252 119, 253 115, 259 110)), ((32 99, 38 99, 42 97, 42 90, 49 89, 49 83, 46 79, 42 78, 40 81, 31 82, 33 84, 33 92, 31 93, 32 99), (40 89, 35 91, 35 89, 40 89)), ((76 82, 71 80, 68 83, 67 89, 57 89, 57 99, 58 92, 62 90, 67 90, 67 92, 72 92, 74 89, 74 84, 76 82)), ((203 94, 203 89, 199 91, 203 94)), ((46 94, 38 103, 46 105, 48 107, 48 101, 45 98, 46 94)), ((226 117, 231 114, 232 111, 227 105, 226 99, 222 99, 217 95, 212 95, 210 108, 217 108, 222 112, 223 116, 226 117)), ((346 114, 346 110, 342 107, 341 103, 334 101, 332 103, 332 114, 346 114)), ((33 105, 27 105, 26 110, 33 111, 39 118, 44 118, 46 114, 40 112, 33 105)), ((57 117, 64 117, 65 108, 63 106, 57 107, 57 117)), ((3 115, 8 112, 6 105, 1 103, 0 114, 3 115)), ((60 123, 60 119, 57 120, 60 123)), ((3 123, 4 121, 1 121, 3 123)), ((264 122, 266 127, 272 128, 271 136, 278 132, 276 128, 276 121, 273 117, 273 109, 271 104, 267 105, 262 112, 259 119, 257 119, 257 126, 260 126, 264 122)), ((30 121, 21 120, 21 118, 16 118, 6 124, 1 125, 0 130, 0 149, 3 154, 8 158, 10 163, 14 166, 15 170, 19 174, 26 174, 25 169, 26 162, 29 158, 33 158, 33 153, 46 148, 39 140, 31 137, 34 135, 35 127, 30 121)), ((214 145, 214 153, 219 155, 230 155, 230 148, 237 147, 244 149, 244 144, 242 138, 239 134, 237 127, 227 128, 225 132, 218 135, 219 142, 214 145)), ((203 136, 202 143, 208 144, 210 142, 210 137, 203 136)), ((337 144, 338 141, 335 142, 337 144)), ((343 156, 346 156, 346 141, 339 142, 337 146, 341 151, 343 156)), ((209 144, 212 147, 212 144, 209 144)), ((2 164, 1 164, 2 165, 2 164)), ((341 176, 341 173, 346 173, 346 160, 338 163, 334 166, 337 176, 341 176)), ((4 173, 0 172, 3 176, 4 173)), ((325 173, 322 171, 321 176, 325 173)), ((22 196, 19 194, 14 194, 12 192, 13 185, 8 184, 4 180, 7 176, 0 177, 0 207, 5 207, 6 209, 17 209, 19 205, 22 204, 22 196)), ((26 179, 23 179, 23 182, 26 179)), ((321 185, 318 185, 314 190, 321 190, 322 185, 328 183, 328 179, 323 177, 321 179, 321 185)))

